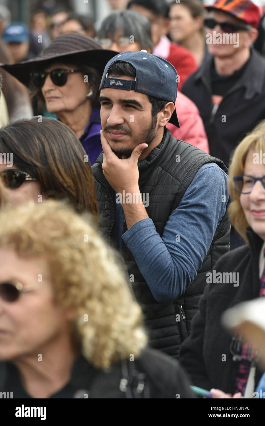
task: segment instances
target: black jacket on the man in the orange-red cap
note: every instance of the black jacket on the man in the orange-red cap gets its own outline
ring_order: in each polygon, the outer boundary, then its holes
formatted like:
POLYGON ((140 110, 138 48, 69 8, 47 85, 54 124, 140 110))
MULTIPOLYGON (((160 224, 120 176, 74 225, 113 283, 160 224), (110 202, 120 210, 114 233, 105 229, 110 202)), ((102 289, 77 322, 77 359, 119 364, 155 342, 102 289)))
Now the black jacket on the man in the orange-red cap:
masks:
POLYGON ((185 81, 181 90, 199 109, 210 154, 220 158, 226 165, 231 151, 247 132, 265 118, 265 60, 255 49, 251 52, 251 59, 242 77, 223 96, 215 115, 212 115, 211 101, 212 56, 185 81))

